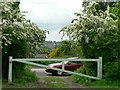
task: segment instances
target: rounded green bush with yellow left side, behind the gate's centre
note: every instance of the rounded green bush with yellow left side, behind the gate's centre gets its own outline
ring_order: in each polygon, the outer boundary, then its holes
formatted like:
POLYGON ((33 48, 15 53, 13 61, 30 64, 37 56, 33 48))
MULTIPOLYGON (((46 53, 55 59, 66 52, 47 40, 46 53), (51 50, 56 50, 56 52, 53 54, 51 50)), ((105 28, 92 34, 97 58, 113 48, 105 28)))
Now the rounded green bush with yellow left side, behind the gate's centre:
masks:
POLYGON ((64 40, 59 46, 51 51, 50 57, 68 58, 82 56, 81 47, 77 42, 64 40))

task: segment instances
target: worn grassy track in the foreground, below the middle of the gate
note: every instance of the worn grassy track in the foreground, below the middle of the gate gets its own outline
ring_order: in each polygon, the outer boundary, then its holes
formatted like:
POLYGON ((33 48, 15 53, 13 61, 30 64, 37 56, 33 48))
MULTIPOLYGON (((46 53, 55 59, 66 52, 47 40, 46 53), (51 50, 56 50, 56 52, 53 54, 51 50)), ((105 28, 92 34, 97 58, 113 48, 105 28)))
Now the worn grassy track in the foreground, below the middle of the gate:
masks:
POLYGON ((38 83, 41 85, 41 88, 84 88, 80 84, 73 82, 69 77, 47 77, 47 80, 41 77, 38 83), (57 80, 52 80, 50 78, 55 78, 57 80), (60 84, 61 86, 57 86, 60 84))

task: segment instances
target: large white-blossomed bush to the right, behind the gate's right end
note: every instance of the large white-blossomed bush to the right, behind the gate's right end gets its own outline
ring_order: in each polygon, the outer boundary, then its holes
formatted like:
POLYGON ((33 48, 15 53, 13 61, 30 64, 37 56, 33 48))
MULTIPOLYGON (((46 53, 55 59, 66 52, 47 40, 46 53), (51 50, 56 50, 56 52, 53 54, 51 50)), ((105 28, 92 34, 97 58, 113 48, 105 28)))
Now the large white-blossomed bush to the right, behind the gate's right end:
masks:
MULTIPOLYGON (((105 65, 103 75, 105 75, 106 79, 117 80, 118 67, 115 62, 120 58, 120 29, 117 26, 118 19, 114 20, 111 17, 109 8, 105 12, 102 10, 96 12, 95 7, 97 5, 99 3, 92 2, 85 12, 75 13, 77 18, 72 21, 72 24, 64 27, 61 32, 63 32, 63 35, 67 34, 70 39, 77 41, 81 45, 85 58, 98 58, 102 56, 103 65, 105 65), (108 66, 108 62, 111 63, 111 66, 108 66), (111 69, 112 67, 114 69, 111 69), (114 74, 110 74, 110 72, 114 72, 114 74)), ((115 14, 114 16, 116 17, 115 14)), ((86 70, 91 70, 96 75, 94 65, 95 63, 86 62, 85 69, 80 70, 80 72, 84 73, 86 70)), ((90 75, 91 73, 88 74, 90 75)), ((85 80, 89 79, 86 78, 85 80)))

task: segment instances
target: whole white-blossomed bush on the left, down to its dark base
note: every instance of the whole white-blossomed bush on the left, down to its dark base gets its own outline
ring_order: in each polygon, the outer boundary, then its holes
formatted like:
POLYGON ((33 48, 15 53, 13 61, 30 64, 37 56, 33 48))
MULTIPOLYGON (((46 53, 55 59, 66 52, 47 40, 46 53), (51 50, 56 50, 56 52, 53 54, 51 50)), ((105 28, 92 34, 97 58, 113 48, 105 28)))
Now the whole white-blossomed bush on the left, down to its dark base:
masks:
MULTIPOLYGON (((9 56, 13 58, 33 57, 41 50, 46 31, 26 20, 20 13, 19 2, 1 2, 2 22, 2 71, 3 77, 8 75, 9 56)), ((1 35, 1 33, 0 33, 1 35)), ((25 75, 25 65, 13 63, 13 78, 25 75)))

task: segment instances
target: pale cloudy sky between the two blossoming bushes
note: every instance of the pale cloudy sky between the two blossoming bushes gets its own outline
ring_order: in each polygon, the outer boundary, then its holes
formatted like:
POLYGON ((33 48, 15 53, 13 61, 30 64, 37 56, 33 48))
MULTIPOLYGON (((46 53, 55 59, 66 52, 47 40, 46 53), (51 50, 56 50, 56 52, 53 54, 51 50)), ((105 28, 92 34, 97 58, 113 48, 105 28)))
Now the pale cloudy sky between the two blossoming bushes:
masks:
MULTIPOLYGON (((20 10, 26 19, 48 30, 46 41, 61 41, 59 31, 75 18, 82 9, 82 0, 20 0, 20 10)), ((67 36, 63 40, 68 39, 67 36)))

